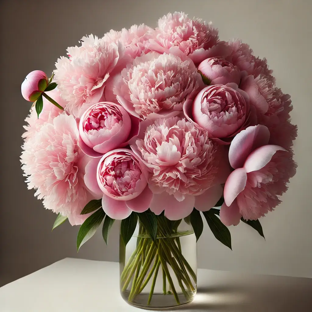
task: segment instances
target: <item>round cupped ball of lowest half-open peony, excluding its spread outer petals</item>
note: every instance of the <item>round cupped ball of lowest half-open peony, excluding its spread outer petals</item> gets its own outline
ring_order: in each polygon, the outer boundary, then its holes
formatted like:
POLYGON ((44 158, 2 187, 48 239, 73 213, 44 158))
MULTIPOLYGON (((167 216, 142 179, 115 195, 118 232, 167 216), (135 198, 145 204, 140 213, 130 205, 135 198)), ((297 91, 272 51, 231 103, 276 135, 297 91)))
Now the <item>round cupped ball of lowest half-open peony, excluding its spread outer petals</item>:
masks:
POLYGON ((111 154, 104 159, 99 168, 100 182, 108 193, 115 196, 134 193, 141 174, 139 163, 126 152, 111 154))

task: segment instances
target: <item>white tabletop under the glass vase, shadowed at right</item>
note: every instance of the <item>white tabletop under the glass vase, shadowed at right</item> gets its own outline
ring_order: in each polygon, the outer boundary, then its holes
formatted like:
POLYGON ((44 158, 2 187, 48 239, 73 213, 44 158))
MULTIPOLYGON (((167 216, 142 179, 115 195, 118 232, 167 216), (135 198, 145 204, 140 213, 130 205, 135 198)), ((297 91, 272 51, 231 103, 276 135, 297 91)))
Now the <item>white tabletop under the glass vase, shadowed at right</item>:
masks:
MULTIPOLYGON (((140 312, 119 295, 115 262, 66 258, 0 288, 0 312, 140 312)), ((178 311, 312 311, 312 279, 198 270, 193 303, 178 311)))

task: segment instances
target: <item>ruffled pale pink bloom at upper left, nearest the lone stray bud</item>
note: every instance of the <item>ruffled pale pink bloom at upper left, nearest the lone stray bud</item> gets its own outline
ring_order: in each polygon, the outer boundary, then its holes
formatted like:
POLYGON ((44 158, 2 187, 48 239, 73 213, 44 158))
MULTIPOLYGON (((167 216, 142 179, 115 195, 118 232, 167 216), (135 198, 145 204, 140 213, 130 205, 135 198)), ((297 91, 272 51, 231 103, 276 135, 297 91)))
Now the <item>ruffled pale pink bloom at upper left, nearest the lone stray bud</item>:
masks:
POLYGON ((61 56, 55 64, 55 80, 61 96, 67 101, 65 110, 81 117, 103 95, 105 83, 125 67, 124 47, 90 35, 81 39, 80 47, 67 48, 69 58, 61 56))

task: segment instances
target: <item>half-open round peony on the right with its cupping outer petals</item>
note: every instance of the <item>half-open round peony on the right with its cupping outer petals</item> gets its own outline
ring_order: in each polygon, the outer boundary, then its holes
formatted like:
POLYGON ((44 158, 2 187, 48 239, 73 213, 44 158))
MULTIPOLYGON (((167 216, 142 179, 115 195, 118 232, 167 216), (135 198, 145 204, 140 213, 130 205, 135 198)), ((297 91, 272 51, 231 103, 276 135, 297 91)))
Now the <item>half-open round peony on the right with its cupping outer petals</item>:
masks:
POLYGON ((248 95, 235 83, 205 87, 183 110, 189 121, 221 144, 230 144, 239 131, 255 122, 248 95))

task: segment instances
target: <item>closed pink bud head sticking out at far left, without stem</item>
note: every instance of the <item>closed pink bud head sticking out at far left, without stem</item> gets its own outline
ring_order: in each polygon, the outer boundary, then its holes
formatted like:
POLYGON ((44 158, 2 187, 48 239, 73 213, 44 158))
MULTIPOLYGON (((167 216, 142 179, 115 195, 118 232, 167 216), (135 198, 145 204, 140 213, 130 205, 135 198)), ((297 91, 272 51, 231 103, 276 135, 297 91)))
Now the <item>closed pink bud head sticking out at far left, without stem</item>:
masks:
POLYGON ((30 72, 22 83, 21 91, 25 100, 34 102, 48 85, 48 77, 43 71, 30 72))

